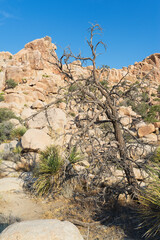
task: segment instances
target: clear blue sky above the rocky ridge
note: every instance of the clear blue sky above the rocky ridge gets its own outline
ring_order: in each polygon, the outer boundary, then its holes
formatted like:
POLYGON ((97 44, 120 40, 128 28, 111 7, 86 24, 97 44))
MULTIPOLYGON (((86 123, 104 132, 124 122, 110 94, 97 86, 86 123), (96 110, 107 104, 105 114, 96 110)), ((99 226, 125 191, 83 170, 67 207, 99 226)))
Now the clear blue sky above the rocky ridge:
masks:
POLYGON ((0 0, 0 51, 51 36, 58 56, 67 46, 89 56, 90 23, 101 25, 107 44, 97 66, 121 68, 160 52, 160 0, 0 0))

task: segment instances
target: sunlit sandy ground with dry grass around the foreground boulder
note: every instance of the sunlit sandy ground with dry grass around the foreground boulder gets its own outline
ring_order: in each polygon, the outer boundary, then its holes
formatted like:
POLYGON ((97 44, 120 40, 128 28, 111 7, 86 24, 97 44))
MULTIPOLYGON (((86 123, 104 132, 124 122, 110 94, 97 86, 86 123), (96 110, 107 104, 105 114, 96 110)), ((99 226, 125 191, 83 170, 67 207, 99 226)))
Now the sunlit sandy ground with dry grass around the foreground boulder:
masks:
MULTIPOLYGON (((73 200, 58 198, 47 200, 35 198, 22 191, 0 192, 0 225, 1 230, 15 221, 33 219, 76 219, 80 222, 94 222, 89 209, 77 205, 73 200)), ((74 222, 73 222, 74 223, 74 222)), ((120 226, 88 225, 79 228, 84 240, 131 240, 126 237, 120 226)), ((138 240, 138 239, 136 239, 138 240)))

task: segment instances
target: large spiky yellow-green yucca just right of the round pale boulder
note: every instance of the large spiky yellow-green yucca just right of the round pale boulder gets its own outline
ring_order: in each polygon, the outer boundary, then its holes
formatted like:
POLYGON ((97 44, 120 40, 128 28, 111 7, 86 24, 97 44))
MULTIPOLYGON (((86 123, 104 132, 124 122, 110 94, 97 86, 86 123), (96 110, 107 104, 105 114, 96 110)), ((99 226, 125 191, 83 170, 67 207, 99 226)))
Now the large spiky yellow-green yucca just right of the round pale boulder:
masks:
POLYGON ((46 195, 51 193, 54 187, 59 187, 58 178, 63 161, 56 146, 47 147, 40 155, 40 161, 34 173, 37 178, 34 188, 38 195, 46 195))

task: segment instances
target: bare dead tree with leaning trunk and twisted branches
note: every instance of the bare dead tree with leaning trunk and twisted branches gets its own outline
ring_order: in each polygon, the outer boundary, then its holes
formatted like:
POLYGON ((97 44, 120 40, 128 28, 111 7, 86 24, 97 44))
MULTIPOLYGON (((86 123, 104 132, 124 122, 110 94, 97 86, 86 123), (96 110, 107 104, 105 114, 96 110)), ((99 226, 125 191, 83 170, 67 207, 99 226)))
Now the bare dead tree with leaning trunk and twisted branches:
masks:
MULTIPOLYGON (((120 123, 120 118, 118 116, 116 99, 118 96, 117 88, 119 89, 122 86, 123 78, 120 82, 113 86, 112 89, 108 89, 101 82, 101 76, 104 73, 105 69, 102 68, 100 71, 96 69, 96 58, 97 58, 97 48, 102 45, 106 48, 105 44, 102 41, 99 41, 94 45, 94 35, 101 32, 101 28, 98 24, 92 25, 89 29, 90 39, 87 40, 88 46, 91 50, 91 57, 82 57, 81 54, 75 56, 70 49, 64 51, 63 56, 60 58, 57 63, 61 73, 63 74, 67 85, 68 85, 68 94, 67 102, 75 101, 79 112, 83 112, 83 117, 80 117, 78 114, 75 118, 75 123, 78 127, 78 131, 72 134, 69 146, 72 144, 84 143, 87 139, 88 145, 92 147, 92 157, 102 157, 106 156, 108 147, 107 144, 101 144, 100 140, 96 136, 90 136, 89 131, 95 129, 95 126, 101 126, 104 123, 110 123, 112 125, 114 140, 116 142, 119 158, 117 158, 118 165, 123 169, 125 177, 128 182, 129 192, 135 193, 138 190, 138 183, 134 175, 133 164, 130 157, 128 156, 126 142, 123 136, 122 124, 120 123), (84 77, 84 74, 80 76, 74 76, 73 68, 71 67, 71 61, 76 60, 73 65, 79 65, 86 61, 90 61, 92 67, 88 68, 90 74, 87 77, 84 77), (92 116, 88 113, 92 112, 92 116), (97 120, 100 115, 105 115, 105 120, 97 120), (96 152, 96 153, 95 153, 96 152), (101 156, 100 156, 101 155, 101 156), (103 156, 102 156, 103 155, 103 156)), ((107 79, 106 79, 107 82, 107 79)), ((113 149, 112 149, 113 150, 113 149)))

